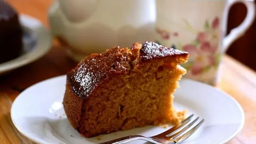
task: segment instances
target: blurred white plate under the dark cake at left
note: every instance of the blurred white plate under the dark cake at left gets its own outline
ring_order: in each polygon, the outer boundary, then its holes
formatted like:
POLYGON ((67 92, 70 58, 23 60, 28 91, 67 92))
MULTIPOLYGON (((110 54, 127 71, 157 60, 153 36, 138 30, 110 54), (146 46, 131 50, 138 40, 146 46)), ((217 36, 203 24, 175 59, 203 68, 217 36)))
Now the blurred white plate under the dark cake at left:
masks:
POLYGON ((0 64, 0 74, 4 74, 44 56, 52 45, 52 35, 41 24, 40 21, 30 16, 20 14, 20 24, 22 26, 23 45, 22 54, 8 62, 0 64))

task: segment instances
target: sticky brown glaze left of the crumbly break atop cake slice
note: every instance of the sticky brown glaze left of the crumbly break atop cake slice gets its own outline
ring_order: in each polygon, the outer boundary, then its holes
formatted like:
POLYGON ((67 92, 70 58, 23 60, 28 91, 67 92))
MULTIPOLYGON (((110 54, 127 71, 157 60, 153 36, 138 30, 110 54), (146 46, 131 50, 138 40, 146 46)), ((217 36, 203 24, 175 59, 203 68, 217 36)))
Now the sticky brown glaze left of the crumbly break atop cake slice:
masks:
POLYGON ((68 73, 68 82, 77 96, 87 98, 102 82, 108 80, 110 75, 129 72, 130 56, 127 50, 121 50, 119 47, 102 54, 92 54, 68 73))

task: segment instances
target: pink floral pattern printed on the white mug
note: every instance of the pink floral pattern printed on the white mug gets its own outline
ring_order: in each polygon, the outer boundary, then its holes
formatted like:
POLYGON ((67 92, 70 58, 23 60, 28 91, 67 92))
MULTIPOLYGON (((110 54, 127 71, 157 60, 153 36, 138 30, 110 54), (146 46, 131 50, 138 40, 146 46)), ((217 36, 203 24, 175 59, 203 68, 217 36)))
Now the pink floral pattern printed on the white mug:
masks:
MULTIPOLYGON (((186 22, 188 30, 195 32, 194 28, 186 22)), ((202 31, 196 31, 195 39, 188 44, 178 44, 177 48, 189 52, 189 61, 183 64, 184 68, 196 76, 207 72, 210 68, 217 68, 220 62, 220 52, 218 52, 219 34, 218 29, 220 27, 220 20, 215 17, 212 22, 208 20, 204 23, 204 29, 202 31)), ((171 33, 166 30, 163 32, 157 28, 158 34, 164 40, 170 40, 170 35, 178 36, 178 32, 171 33), (168 34, 168 36, 165 36, 168 34)), ((159 42, 158 42, 159 43, 159 42)), ((176 48, 176 46, 171 46, 176 48)))

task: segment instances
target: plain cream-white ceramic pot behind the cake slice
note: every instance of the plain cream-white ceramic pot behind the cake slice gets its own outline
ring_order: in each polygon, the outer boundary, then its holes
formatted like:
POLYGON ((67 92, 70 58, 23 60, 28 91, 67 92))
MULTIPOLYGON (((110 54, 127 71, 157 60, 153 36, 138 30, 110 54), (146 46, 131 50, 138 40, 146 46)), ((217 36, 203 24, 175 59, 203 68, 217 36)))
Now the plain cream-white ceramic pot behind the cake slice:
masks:
POLYGON ((56 0, 49 9, 52 34, 75 60, 153 41, 155 20, 155 0, 56 0))

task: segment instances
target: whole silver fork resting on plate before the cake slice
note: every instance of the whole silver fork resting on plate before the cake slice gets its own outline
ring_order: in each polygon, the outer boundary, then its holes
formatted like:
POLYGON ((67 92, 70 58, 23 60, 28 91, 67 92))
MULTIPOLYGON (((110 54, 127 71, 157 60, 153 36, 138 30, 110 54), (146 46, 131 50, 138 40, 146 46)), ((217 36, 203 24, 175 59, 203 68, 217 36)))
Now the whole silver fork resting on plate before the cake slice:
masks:
POLYGON ((175 125, 169 130, 166 130, 165 132, 162 132, 161 134, 158 134, 155 136, 150 136, 150 137, 146 137, 142 135, 125 136, 122 138, 110 140, 108 142, 102 142, 100 144, 124 144, 132 140, 146 140, 154 144, 180 144, 181 142, 186 140, 189 136, 191 136, 204 122, 204 119, 202 119, 198 124, 196 124, 196 126, 192 127, 192 125, 199 120, 199 117, 197 117, 195 120, 190 122, 193 116, 194 114, 191 114, 188 118, 183 120, 180 124, 175 125), (188 130, 189 128, 190 130, 188 130), (188 131, 185 133, 186 130, 188 131))

